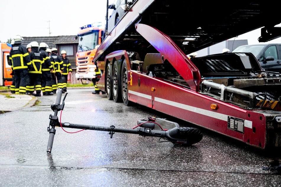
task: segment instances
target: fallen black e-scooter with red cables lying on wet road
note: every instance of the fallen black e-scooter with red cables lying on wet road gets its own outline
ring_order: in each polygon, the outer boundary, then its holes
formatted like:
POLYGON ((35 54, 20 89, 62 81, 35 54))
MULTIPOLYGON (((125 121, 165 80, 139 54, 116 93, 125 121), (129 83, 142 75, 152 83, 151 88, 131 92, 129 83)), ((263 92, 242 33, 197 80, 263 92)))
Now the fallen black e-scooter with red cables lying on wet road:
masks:
POLYGON ((50 123, 49 127, 47 128, 49 132, 47 152, 49 153, 51 153, 53 147, 53 140, 56 134, 55 127, 107 131, 110 134, 110 138, 113 137, 113 134, 115 132, 139 134, 144 137, 160 137, 158 142, 172 142, 175 145, 186 146, 190 146, 201 141, 203 137, 202 132, 199 129, 196 129, 194 127, 180 127, 179 124, 176 122, 171 122, 166 119, 154 117, 148 117, 148 119, 138 120, 137 126, 132 129, 118 128, 113 125, 111 125, 110 127, 102 127, 93 125, 72 124, 69 122, 59 122, 57 114, 58 111, 64 109, 64 100, 66 98, 66 95, 67 93, 65 94, 64 99, 62 100, 62 104, 60 104, 62 88, 59 88, 56 97, 56 103, 51 105, 51 109, 54 111, 54 115, 50 114, 50 123), (156 127, 155 124, 157 124, 156 127), (165 140, 160 141, 162 138, 165 140))

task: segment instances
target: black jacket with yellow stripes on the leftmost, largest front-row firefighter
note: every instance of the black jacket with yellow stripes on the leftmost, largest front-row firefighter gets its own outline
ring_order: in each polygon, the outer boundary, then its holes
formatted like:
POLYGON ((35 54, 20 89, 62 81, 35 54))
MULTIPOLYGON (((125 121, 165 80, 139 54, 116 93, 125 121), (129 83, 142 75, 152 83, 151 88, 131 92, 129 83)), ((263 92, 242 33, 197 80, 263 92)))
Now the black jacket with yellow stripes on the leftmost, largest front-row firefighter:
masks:
POLYGON ((26 47, 20 44, 14 44, 9 59, 12 62, 13 70, 31 69, 30 55, 27 52, 26 47))

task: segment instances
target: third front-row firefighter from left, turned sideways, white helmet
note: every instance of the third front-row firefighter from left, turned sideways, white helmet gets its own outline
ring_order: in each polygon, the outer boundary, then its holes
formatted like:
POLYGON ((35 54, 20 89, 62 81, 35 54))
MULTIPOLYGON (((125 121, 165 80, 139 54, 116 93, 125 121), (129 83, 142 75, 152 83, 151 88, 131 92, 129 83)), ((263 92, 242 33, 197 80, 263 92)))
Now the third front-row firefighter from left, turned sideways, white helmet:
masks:
POLYGON ((42 80, 41 80, 43 96, 53 95, 53 89, 52 89, 53 65, 51 63, 49 53, 46 51, 47 47, 49 46, 45 42, 41 42, 39 44, 39 53, 43 57, 42 80))

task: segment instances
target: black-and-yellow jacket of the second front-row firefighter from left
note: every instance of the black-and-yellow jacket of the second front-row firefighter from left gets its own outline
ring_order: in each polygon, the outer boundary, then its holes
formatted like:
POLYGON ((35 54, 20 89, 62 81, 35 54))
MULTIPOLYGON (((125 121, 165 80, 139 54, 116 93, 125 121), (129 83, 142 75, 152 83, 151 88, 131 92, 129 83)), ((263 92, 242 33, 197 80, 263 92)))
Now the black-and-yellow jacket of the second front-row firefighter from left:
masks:
POLYGON ((38 52, 38 47, 31 47, 31 52, 29 53, 29 55, 32 63, 32 69, 28 70, 28 72, 42 74, 41 68, 43 63, 43 57, 38 52))

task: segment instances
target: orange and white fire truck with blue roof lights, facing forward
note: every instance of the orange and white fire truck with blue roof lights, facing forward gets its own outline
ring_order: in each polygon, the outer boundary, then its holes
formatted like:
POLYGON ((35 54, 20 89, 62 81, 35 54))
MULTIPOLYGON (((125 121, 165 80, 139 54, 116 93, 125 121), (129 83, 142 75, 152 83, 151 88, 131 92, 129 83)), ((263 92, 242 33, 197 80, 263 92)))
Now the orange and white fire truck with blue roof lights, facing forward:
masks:
POLYGON ((74 40, 79 39, 78 52, 76 53, 75 78, 82 84, 87 84, 95 77, 96 65, 92 62, 98 45, 103 41, 104 27, 101 22, 80 27, 74 40))

